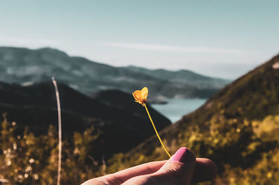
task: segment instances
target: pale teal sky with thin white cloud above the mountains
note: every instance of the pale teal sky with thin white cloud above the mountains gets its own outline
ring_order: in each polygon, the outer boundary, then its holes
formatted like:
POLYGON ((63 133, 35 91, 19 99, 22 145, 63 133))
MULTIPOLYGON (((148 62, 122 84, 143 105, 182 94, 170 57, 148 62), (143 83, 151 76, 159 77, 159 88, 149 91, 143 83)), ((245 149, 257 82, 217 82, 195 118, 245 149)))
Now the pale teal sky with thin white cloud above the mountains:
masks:
POLYGON ((236 79, 279 53, 279 1, 0 0, 0 46, 236 79))

